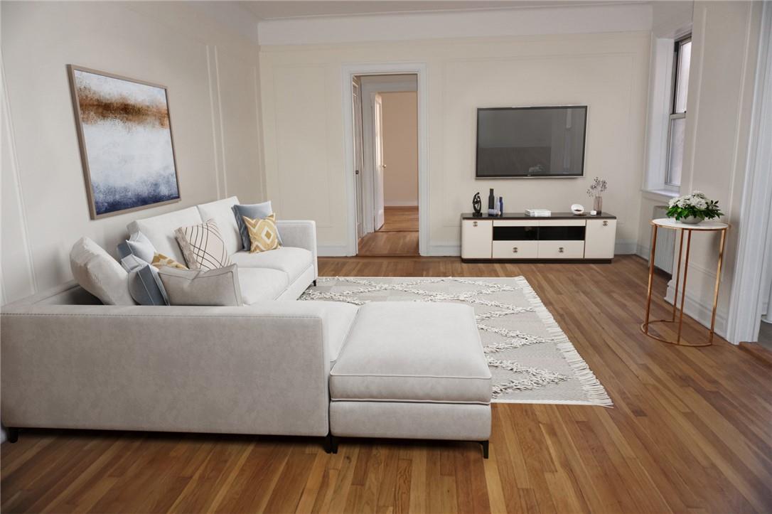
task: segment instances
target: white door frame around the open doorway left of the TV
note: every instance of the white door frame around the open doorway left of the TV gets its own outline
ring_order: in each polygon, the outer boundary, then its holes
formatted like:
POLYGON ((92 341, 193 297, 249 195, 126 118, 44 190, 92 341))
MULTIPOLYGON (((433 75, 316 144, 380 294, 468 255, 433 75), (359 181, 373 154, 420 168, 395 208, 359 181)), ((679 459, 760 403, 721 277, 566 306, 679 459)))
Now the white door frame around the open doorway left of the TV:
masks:
POLYGON ((351 81, 362 75, 418 76, 418 253, 428 255, 428 87, 426 63, 346 64, 342 69, 347 201, 346 255, 357 255, 357 191, 354 178, 354 99, 351 81))

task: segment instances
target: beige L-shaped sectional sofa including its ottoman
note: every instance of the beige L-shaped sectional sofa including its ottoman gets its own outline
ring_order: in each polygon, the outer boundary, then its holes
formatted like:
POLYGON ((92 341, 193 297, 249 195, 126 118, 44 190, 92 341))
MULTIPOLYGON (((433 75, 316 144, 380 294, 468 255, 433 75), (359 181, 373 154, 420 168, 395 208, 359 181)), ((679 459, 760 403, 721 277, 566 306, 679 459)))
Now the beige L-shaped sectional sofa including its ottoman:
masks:
POLYGON ((2 421, 18 428, 482 442, 490 372, 469 306, 296 300, 317 279, 313 221, 250 254, 237 198, 132 222, 183 261, 174 229, 215 218, 244 306, 108 306, 69 282, 2 309, 2 421), (331 391, 332 390, 332 391, 331 391))

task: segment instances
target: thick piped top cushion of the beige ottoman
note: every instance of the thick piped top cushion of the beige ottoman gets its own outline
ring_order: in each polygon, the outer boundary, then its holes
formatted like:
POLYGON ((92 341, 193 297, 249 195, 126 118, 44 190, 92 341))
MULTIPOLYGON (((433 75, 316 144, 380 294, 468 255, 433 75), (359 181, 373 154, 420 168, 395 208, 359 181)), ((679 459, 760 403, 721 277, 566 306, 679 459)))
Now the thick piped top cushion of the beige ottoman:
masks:
POLYGON ((488 404, 491 374, 472 307, 371 302, 330 372, 334 401, 488 404))

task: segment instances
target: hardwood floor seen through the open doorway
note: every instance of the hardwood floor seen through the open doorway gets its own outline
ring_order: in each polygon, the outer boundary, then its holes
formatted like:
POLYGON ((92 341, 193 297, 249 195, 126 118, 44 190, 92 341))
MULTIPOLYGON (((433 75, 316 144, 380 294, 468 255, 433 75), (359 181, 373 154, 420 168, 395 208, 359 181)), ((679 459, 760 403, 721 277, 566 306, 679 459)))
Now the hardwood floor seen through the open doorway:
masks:
POLYGON ((359 240, 358 256, 418 255, 418 207, 387 207, 384 225, 359 240))

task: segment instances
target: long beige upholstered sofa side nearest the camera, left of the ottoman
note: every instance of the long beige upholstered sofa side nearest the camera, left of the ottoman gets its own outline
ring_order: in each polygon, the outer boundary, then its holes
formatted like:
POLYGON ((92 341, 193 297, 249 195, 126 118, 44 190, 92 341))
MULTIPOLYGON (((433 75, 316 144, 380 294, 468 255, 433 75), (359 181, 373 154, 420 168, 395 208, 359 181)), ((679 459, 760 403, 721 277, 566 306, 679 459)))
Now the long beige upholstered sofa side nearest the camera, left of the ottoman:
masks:
POLYGON ((10 427, 326 435, 329 311, 33 305, 2 314, 10 427))

